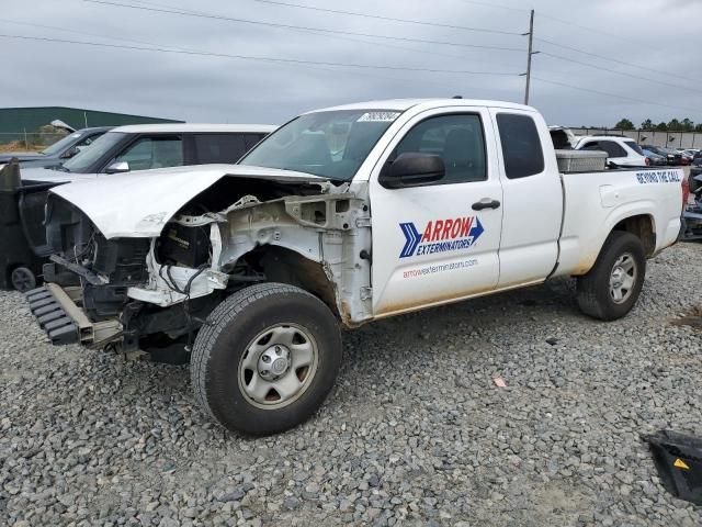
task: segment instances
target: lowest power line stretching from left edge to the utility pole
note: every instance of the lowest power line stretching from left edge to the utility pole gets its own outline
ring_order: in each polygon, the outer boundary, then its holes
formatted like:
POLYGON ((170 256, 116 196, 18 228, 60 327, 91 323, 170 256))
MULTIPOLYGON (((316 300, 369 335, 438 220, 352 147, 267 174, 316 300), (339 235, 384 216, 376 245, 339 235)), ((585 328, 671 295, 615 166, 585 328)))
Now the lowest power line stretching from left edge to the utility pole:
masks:
POLYGON ((38 41, 38 42, 56 42, 61 44, 76 44, 76 45, 94 46, 94 47, 109 47, 114 49, 129 49, 129 51, 138 51, 138 52, 173 53, 173 54, 195 55, 195 56, 206 56, 206 57, 236 58, 241 60, 260 60, 260 61, 270 61, 270 63, 331 66, 331 67, 342 67, 342 68, 385 69, 385 70, 394 70, 394 71, 416 71, 416 72, 429 72, 429 74, 485 75, 485 76, 499 76, 499 77, 506 77, 506 76, 513 77, 517 75, 513 72, 506 72, 506 71, 471 71, 471 70, 464 70, 464 69, 410 68, 410 67, 403 67, 403 66, 380 66, 380 65, 371 65, 371 64, 332 63, 332 61, 322 61, 322 60, 303 60, 303 59, 295 59, 295 58, 234 55, 234 54, 227 54, 227 53, 199 52, 194 49, 182 49, 182 48, 172 49, 172 48, 166 48, 166 47, 127 46, 122 44, 69 41, 64 38, 50 38, 50 37, 27 36, 27 35, 0 34, 0 37, 19 38, 19 40, 26 40, 26 41, 38 41))

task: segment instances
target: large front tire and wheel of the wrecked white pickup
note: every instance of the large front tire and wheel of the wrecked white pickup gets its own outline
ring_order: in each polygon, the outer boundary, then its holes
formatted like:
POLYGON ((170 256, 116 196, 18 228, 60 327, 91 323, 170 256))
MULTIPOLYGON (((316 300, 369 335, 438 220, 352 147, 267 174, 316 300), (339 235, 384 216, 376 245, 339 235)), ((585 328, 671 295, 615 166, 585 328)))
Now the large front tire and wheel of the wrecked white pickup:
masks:
POLYGON ((324 403, 341 350, 337 319, 319 299, 283 283, 252 285, 222 302, 197 334, 191 358, 195 397, 230 430, 278 434, 324 403))

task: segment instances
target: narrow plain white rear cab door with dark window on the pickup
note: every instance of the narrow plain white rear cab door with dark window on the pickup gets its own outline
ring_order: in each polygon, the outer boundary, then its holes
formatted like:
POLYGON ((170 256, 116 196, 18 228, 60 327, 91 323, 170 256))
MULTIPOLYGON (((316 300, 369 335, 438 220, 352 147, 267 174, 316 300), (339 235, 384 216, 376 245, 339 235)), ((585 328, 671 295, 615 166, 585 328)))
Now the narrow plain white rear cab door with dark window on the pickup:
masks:
POLYGON ((536 112, 492 109, 502 178, 499 288, 539 282, 554 269, 563 190, 546 123, 536 112))

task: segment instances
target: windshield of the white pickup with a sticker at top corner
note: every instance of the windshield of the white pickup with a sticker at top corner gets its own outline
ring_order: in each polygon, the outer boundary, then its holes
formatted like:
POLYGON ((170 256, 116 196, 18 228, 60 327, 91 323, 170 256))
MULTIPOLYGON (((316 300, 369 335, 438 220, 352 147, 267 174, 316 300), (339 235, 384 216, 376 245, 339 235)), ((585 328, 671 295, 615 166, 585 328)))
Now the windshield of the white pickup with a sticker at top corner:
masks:
POLYGON ((269 135, 239 162, 350 181, 399 115, 390 110, 301 115, 269 135))

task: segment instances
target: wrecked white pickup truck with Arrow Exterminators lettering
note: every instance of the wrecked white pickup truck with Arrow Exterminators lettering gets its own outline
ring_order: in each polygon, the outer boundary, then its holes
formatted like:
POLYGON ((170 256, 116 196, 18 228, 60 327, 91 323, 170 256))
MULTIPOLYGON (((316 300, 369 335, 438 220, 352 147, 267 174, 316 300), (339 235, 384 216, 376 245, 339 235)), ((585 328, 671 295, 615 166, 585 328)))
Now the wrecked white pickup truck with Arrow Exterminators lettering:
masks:
POLYGON ((192 348, 210 414, 276 433, 332 388, 340 326, 558 276, 577 278, 585 314, 624 316, 646 259, 677 240, 686 181, 675 169, 558 169, 603 167, 598 156, 557 156, 542 116, 519 104, 319 110, 235 166, 54 189, 54 283, 27 298, 57 344, 192 348))

